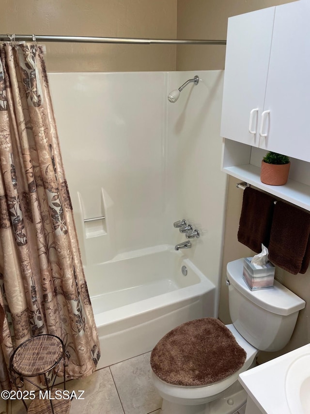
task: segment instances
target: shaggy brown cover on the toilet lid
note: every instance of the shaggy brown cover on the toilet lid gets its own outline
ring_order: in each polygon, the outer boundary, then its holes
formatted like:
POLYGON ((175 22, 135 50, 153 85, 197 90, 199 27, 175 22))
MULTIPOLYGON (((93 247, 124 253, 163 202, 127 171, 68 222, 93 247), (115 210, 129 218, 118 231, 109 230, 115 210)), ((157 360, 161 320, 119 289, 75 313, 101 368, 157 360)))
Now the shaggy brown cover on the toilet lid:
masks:
POLYGON ((246 357, 221 321, 202 318, 168 332, 153 349, 151 366, 165 382, 199 386, 229 377, 243 366, 246 357))

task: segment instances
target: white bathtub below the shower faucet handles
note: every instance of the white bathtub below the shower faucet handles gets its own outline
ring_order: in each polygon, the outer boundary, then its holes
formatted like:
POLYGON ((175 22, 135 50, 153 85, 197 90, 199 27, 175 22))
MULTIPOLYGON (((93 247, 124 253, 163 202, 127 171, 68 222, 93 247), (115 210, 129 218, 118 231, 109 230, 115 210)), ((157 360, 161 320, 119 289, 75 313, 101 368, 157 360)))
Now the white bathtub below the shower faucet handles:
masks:
POLYGON ((85 275, 100 339, 97 369, 152 350, 181 323, 216 316, 215 285, 174 246, 126 252, 85 266, 85 275))

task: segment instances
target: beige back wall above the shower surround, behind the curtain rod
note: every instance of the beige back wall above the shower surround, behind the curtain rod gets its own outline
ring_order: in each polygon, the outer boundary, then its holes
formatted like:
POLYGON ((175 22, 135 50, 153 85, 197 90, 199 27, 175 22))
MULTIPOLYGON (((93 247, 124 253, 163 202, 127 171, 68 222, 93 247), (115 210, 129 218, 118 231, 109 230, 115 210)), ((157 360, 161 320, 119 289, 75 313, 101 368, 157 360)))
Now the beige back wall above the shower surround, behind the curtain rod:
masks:
MULTIPOLYGON (((177 0, 1 0, 0 32, 176 37, 177 0)), ((174 45, 47 43, 47 70, 175 70, 174 45)))

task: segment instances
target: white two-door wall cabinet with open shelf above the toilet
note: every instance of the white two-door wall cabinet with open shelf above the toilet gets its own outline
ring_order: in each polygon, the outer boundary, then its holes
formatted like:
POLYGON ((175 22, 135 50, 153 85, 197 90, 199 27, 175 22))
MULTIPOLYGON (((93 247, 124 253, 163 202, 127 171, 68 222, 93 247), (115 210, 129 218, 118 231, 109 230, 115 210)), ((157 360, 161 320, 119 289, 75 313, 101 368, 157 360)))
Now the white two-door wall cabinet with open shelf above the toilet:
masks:
POLYGON ((309 20, 309 0, 229 18, 221 135, 223 171, 310 211, 309 20), (260 181, 267 150, 291 158, 287 184, 260 181))

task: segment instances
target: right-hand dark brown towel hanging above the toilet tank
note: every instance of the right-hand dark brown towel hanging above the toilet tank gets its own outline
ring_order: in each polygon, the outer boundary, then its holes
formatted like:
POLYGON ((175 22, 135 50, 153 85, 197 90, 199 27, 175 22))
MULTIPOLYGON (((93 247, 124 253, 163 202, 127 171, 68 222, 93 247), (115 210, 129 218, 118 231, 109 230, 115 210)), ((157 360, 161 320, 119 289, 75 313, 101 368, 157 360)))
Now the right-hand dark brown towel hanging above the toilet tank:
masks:
POLYGON ((278 201, 272 221, 269 260, 293 275, 305 273, 310 261, 310 214, 278 201))

